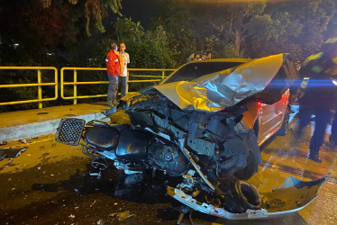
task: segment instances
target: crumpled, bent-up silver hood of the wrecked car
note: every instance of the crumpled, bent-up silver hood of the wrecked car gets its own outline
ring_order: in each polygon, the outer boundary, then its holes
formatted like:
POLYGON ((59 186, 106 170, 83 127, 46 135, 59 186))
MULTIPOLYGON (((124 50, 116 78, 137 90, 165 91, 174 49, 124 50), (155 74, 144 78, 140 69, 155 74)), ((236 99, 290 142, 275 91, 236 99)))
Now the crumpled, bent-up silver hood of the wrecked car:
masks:
MULTIPOLYGON (((295 67, 289 69, 286 58, 287 54, 257 58, 238 67, 201 76, 190 82, 178 81, 154 85, 154 88, 180 109, 222 111, 264 90, 282 65, 286 74, 294 73, 295 67)), ((290 85, 289 82, 287 85, 290 85)))

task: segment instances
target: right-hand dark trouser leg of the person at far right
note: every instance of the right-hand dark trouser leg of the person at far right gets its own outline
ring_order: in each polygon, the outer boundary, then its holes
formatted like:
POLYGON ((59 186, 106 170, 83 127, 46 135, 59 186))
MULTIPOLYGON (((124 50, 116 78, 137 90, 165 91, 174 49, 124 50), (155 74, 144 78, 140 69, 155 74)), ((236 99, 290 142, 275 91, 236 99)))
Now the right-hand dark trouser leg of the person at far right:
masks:
POLYGON ((314 135, 310 140, 310 155, 315 156, 323 144, 325 130, 328 122, 331 120, 332 112, 326 108, 316 108, 314 122, 314 135))

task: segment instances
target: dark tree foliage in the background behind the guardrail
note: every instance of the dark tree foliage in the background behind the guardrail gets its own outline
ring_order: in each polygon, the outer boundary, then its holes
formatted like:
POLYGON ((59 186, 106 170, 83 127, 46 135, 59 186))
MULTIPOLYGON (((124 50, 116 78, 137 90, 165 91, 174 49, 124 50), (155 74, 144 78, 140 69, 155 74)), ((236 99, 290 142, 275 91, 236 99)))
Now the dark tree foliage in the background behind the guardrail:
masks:
MULTIPOLYGON (((303 60, 319 50, 323 40, 337 34, 337 0, 165 0, 156 2, 160 7, 151 14, 133 10, 138 18, 151 18, 146 28, 123 16, 122 4, 122 0, 3 0, 0 64, 105 67, 112 41, 126 44, 129 67, 179 67, 192 52, 211 52, 213 58, 260 58, 288 52, 303 60)), ((106 78, 105 73, 78 76, 82 80, 106 78)), ((35 75, 0 71, 1 84, 32 77, 35 75)), ((81 86, 78 90, 79 94, 102 94, 105 88, 81 86)), ((46 90, 44 94, 50 95, 46 90)), ((66 91, 72 92, 71 88, 66 91)), ((37 94, 29 88, 0 92, 3 102, 37 94)))

